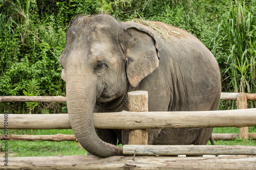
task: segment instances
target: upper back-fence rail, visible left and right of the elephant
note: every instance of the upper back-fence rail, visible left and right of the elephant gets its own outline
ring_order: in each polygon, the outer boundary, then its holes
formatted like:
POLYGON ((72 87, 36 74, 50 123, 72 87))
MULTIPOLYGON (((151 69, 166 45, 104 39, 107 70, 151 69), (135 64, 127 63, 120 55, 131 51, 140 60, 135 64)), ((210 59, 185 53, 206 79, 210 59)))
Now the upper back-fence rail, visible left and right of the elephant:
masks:
MULTIPOLYGON (((247 101, 256 101, 256 94, 246 94, 247 101)), ((221 100, 233 100, 239 99, 239 93, 221 93, 221 100)), ((1 102, 56 102, 66 103, 65 96, 0 96, 1 102)))

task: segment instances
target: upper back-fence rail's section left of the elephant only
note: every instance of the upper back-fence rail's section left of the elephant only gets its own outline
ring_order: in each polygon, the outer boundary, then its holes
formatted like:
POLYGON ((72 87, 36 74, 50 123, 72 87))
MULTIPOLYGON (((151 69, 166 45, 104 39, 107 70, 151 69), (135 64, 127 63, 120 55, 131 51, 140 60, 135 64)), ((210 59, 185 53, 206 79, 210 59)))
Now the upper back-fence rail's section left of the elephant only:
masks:
POLYGON ((66 103, 64 96, 0 96, 1 102, 56 102, 66 103))

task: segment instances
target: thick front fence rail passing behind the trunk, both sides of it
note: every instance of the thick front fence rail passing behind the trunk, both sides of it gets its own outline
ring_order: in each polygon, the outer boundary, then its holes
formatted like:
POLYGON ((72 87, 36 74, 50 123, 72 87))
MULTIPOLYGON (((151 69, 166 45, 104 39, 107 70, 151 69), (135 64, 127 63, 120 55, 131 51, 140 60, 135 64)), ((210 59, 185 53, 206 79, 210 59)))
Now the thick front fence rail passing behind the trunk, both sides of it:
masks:
MULTIPOLYGON (((4 120, 4 114, 0 114, 0 129, 4 129, 4 120)), ((239 128, 256 126, 256 108, 94 113, 94 126, 97 129, 239 128)), ((71 129, 71 125, 68 114, 8 114, 8 129, 71 129)))

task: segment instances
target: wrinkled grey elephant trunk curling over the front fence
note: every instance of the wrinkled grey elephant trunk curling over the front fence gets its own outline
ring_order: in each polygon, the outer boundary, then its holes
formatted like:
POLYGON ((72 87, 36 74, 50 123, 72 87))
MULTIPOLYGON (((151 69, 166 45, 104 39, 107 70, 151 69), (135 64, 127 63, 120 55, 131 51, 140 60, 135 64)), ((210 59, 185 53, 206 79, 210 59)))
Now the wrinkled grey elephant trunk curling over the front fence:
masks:
MULTIPOLYGON (((68 77, 67 77, 68 78, 68 77)), ((76 77, 77 78, 77 77, 76 77)), ((89 153, 108 157, 122 155, 122 149, 102 141, 96 134, 93 123, 93 111, 96 103, 96 85, 92 82, 71 78, 67 80, 67 106, 71 127, 76 138, 89 153)))

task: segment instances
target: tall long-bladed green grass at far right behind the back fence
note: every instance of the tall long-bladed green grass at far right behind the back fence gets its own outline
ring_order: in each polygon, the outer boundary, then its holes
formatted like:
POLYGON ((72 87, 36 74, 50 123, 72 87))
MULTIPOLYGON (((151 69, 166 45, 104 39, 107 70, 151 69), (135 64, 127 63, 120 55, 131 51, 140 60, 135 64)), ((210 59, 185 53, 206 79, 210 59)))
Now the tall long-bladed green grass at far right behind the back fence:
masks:
MULTIPOLYGON (((256 16, 254 7, 240 1, 231 3, 220 24, 228 44, 225 79, 230 79, 234 92, 256 93, 256 16)), ((217 34, 220 32, 218 31, 217 34)))

